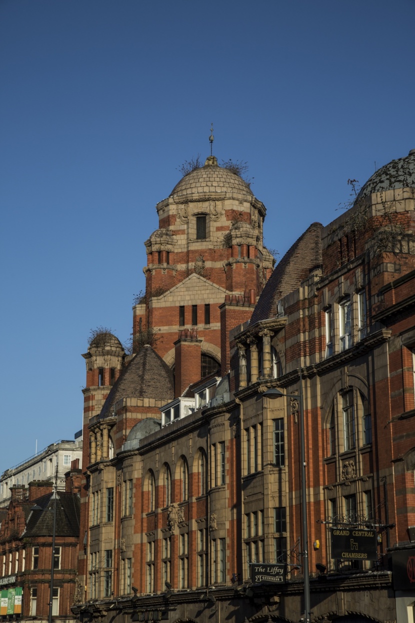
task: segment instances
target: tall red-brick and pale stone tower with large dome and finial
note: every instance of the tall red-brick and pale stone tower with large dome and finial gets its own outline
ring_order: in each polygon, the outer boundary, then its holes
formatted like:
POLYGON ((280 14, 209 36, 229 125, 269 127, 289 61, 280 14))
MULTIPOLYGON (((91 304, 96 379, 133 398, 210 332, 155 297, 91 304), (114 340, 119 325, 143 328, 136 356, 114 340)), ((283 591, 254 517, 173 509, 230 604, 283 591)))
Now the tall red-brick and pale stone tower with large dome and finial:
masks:
POLYGON ((134 307, 134 340, 158 328, 154 348, 174 366, 177 330, 197 331, 203 376, 221 361, 225 297, 238 305, 233 326, 248 320, 273 269, 263 245, 266 208, 249 184, 209 156, 156 209, 159 229, 145 242, 146 295, 134 307))

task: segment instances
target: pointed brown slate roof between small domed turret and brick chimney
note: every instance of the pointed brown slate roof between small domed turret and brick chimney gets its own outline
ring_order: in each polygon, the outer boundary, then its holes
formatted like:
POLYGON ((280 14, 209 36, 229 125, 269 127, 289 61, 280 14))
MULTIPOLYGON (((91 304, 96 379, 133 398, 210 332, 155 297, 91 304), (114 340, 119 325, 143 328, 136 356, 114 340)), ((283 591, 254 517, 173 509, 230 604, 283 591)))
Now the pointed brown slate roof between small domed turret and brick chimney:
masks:
POLYGON ((101 409, 100 418, 112 415, 114 404, 123 398, 174 398, 174 374, 151 346, 146 345, 123 369, 101 409))

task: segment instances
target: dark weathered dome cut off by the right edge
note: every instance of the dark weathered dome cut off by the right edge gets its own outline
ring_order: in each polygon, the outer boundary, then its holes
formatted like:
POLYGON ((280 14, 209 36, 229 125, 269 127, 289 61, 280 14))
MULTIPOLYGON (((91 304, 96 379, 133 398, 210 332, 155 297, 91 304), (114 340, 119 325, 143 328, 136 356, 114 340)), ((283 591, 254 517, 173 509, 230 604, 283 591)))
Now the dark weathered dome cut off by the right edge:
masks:
POLYGON ((409 151, 404 158, 392 160, 373 173, 361 188, 359 197, 394 188, 415 188, 415 150, 409 151))

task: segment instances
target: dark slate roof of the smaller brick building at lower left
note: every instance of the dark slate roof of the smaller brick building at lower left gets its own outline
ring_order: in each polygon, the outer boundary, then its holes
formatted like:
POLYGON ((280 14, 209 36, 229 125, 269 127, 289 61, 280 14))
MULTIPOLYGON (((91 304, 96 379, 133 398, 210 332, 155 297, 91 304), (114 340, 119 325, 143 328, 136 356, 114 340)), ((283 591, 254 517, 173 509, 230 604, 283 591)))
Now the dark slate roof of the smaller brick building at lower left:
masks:
MULTIPOLYGON (((54 497, 47 493, 37 498, 30 506, 34 510, 26 525, 24 536, 52 536, 54 530, 54 497)), ((56 502, 56 536, 79 536, 80 498, 74 493, 58 491, 56 502)))

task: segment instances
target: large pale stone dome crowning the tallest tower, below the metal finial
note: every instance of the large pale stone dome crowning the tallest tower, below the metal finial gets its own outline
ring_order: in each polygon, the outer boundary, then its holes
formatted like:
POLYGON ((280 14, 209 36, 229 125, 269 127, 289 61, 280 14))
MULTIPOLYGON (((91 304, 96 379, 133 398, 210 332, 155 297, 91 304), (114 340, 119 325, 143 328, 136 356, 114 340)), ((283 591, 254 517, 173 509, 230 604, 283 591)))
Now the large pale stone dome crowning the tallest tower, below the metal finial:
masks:
POLYGON ((209 156, 205 166, 190 171, 175 185, 171 196, 200 193, 230 193, 252 197, 248 184, 229 169, 218 166, 215 156, 209 156))

